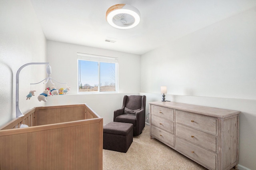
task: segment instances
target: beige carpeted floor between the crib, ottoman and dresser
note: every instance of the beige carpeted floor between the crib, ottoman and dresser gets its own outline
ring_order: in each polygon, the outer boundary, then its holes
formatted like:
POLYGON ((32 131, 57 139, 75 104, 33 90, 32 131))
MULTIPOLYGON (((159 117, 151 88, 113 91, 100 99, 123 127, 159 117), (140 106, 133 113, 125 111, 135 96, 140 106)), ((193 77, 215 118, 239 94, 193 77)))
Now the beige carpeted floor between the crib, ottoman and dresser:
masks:
POLYGON ((156 139, 149 127, 134 136, 126 153, 103 150, 103 170, 206 170, 156 139))

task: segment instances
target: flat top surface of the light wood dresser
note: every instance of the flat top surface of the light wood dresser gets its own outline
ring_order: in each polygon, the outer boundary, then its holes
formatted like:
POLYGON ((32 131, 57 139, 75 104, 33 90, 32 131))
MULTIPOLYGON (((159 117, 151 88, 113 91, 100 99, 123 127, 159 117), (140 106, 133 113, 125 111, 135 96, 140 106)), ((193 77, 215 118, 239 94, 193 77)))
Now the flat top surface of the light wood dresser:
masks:
POLYGON ((176 110, 188 111, 193 113, 198 113, 202 115, 225 118, 230 117, 232 115, 237 115, 241 113, 240 111, 234 111, 229 109, 220 109, 215 107, 206 107, 200 105, 190 105, 186 103, 176 103, 176 102, 162 102, 162 101, 154 101, 149 102, 151 105, 158 105, 162 107, 168 107, 176 110))

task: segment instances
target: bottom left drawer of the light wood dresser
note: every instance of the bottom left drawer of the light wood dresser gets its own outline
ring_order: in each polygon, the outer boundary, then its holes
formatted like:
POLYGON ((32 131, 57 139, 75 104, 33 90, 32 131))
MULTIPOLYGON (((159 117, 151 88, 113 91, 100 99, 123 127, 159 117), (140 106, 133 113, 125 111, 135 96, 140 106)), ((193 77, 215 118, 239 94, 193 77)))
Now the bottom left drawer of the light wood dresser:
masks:
POLYGON ((151 126, 151 136, 154 136, 158 140, 166 143, 169 146, 174 147, 174 135, 161 130, 160 128, 151 126))

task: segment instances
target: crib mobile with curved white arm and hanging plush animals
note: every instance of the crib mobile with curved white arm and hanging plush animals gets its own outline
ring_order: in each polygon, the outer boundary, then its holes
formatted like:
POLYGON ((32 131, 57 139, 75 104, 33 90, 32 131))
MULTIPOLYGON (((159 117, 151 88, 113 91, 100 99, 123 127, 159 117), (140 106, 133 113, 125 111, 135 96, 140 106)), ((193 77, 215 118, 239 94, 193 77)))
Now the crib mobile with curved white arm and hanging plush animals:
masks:
MULTIPOLYGON (((48 74, 48 77, 46 77, 42 81, 45 81, 44 84, 46 84, 48 81, 50 81, 50 83, 52 83, 51 87, 47 87, 43 91, 43 93, 38 95, 38 97, 37 97, 38 101, 47 102, 46 97, 48 97, 48 96, 65 95, 68 91, 70 91, 70 87, 67 86, 67 83, 58 82, 57 80, 50 77, 50 74, 52 73, 52 68, 50 66, 50 63, 27 63, 27 64, 24 64, 18 69, 18 71, 16 73, 16 117, 23 117, 24 116, 23 113, 20 111, 20 107, 19 107, 19 74, 20 74, 20 71, 28 65, 38 65, 38 64, 47 64, 46 73, 48 74), (60 88, 58 90, 56 88, 55 84, 52 82, 52 80, 54 80, 54 81, 56 81, 60 84, 66 84, 66 89, 60 88)), ((36 91, 31 90, 31 85, 39 84, 42 81, 40 81, 38 83, 30 83, 30 91, 29 91, 28 95, 26 96, 26 100, 28 100, 28 99, 30 100, 30 98, 35 95, 34 92, 36 92, 36 91)))

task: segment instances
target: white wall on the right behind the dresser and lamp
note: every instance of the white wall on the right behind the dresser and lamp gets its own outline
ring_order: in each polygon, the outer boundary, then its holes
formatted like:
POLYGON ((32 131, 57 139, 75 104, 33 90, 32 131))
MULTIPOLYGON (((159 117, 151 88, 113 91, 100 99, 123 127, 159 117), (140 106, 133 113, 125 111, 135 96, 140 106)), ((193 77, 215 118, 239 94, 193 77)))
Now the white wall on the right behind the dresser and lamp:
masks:
MULTIPOLYGON (((239 164, 256 168, 256 8, 141 57, 141 92, 166 100, 239 110, 239 164)), ((148 106, 147 106, 148 110, 148 106)))

